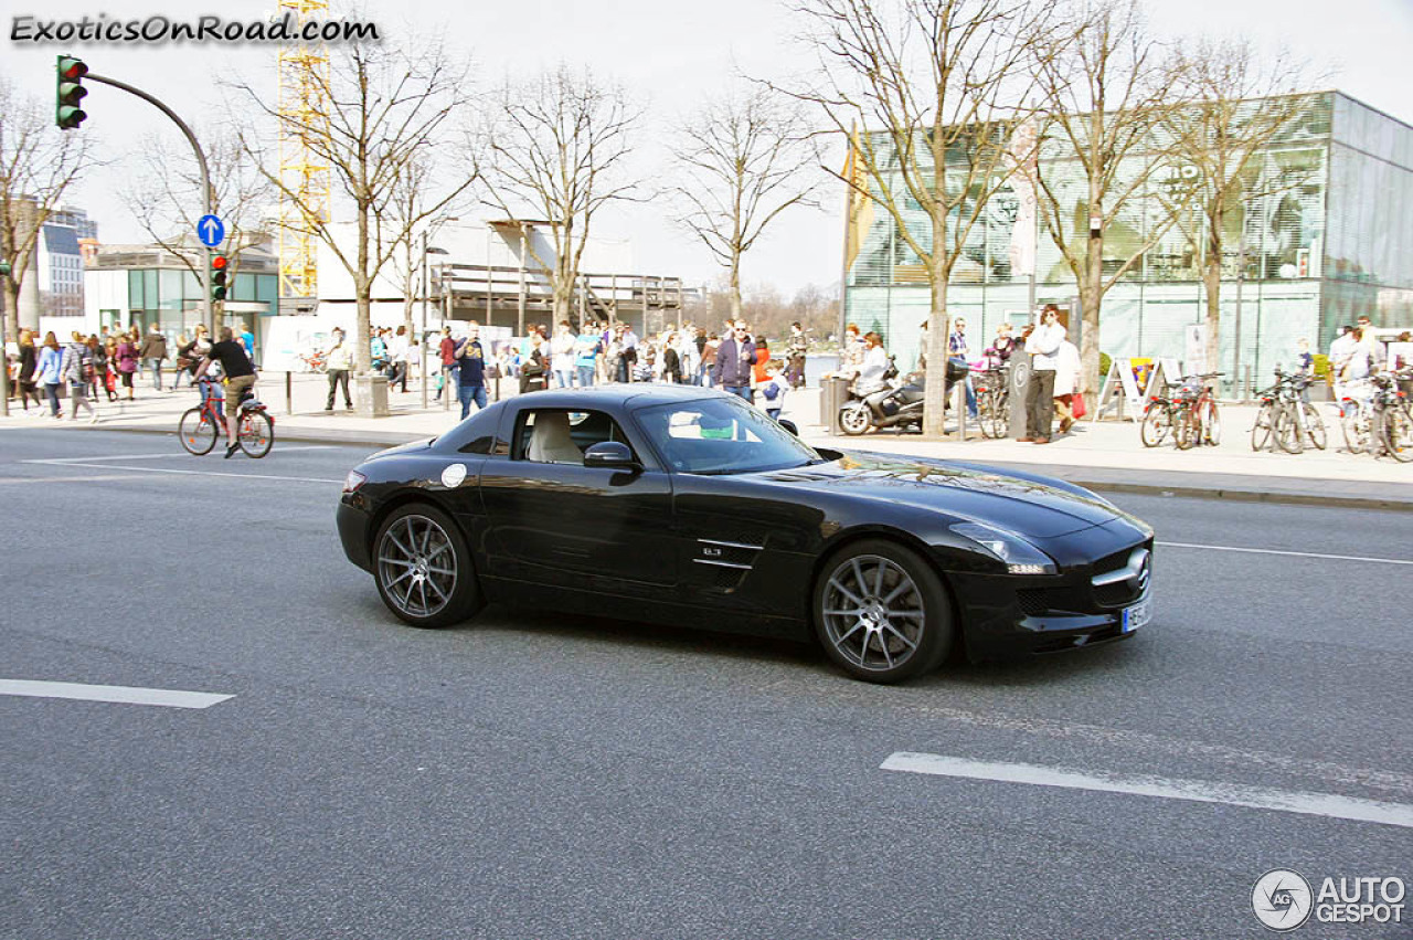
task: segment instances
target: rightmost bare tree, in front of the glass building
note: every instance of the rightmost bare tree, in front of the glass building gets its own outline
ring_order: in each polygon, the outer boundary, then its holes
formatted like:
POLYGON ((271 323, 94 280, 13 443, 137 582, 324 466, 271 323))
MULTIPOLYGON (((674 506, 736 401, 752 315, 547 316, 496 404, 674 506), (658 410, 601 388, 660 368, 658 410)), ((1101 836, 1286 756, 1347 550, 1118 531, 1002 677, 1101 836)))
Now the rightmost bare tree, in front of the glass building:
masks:
MULTIPOLYGON (((1183 230, 1194 253, 1202 256, 1207 368, 1215 370, 1221 368, 1228 242, 1234 235, 1242 237, 1246 204, 1299 185, 1308 175, 1267 165, 1266 157, 1310 109, 1308 98, 1300 95, 1310 79, 1303 64, 1284 52, 1263 59, 1249 40, 1198 40, 1184 49, 1183 98, 1191 105, 1171 114, 1169 127, 1178 158, 1197 171, 1190 191, 1202 225, 1183 225, 1183 230)), ((1236 263, 1245 264, 1245 259, 1236 263)), ((1232 375, 1239 365, 1234 363, 1232 375)))

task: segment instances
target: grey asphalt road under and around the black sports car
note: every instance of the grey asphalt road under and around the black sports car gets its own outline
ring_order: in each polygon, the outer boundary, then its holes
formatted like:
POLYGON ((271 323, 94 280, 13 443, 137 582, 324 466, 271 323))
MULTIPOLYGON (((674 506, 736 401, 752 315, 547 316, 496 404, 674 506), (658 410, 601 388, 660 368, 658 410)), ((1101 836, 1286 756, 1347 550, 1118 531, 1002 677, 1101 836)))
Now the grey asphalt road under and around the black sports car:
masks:
POLYGON ((232 695, 0 695, 0 936, 1258 937, 1269 869, 1413 882, 1400 826, 880 769, 1407 813, 1413 567, 1358 560, 1413 560, 1406 513, 1118 498, 1160 543, 1297 554, 1160 546, 1126 643, 875 687, 588 613, 400 626, 333 530, 366 452, 0 433, 0 680, 232 695))

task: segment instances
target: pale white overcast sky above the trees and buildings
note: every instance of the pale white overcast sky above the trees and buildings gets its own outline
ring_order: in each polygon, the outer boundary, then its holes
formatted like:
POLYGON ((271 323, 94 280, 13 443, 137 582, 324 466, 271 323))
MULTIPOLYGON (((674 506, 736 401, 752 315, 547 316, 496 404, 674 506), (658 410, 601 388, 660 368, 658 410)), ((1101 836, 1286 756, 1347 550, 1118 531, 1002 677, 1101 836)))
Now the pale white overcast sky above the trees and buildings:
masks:
MULTIPOLYGON (((1164 35, 1178 41, 1197 34, 1249 37, 1263 47, 1284 47, 1328 74, 1327 88, 1413 124, 1413 82, 1407 79, 1413 0, 1145 1, 1164 35)), ((226 0, 220 13, 227 20, 264 18, 274 6, 274 0, 226 0)), ((106 14, 109 20, 164 14, 189 21, 195 16, 191 4, 170 0, 106 0, 86 8, 66 4, 65 10, 73 17, 106 14)), ((34 0, 0 0, 0 11, 7 24, 0 76, 45 107, 52 102, 54 57, 59 52, 157 95, 196 126, 240 119, 242 109, 222 105, 233 99, 222 82, 244 78, 268 89, 268 100, 274 100, 274 47, 16 42, 10 35, 14 17, 52 14, 34 0)), ((438 0, 366 0, 360 18, 413 48, 432 37, 444 40, 471 58, 478 88, 489 89, 507 74, 528 75, 560 61, 592 65, 647 107, 649 143, 639 160, 657 180, 670 167, 664 140, 673 120, 691 113, 738 72, 776 78, 808 62, 791 42, 797 21, 777 0, 519 0, 455 8, 438 0)), ((175 146, 178 131, 154 107, 116 89, 90 86, 85 109, 88 122, 69 133, 93 136, 106 165, 88 175, 71 204, 99 222, 103 242, 146 240, 116 194, 136 172, 144 141, 161 136, 175 146)), ((788 295, 805 284, 836 284, 842 204, 839 184, 827 185, 821 209, 781 216, 745 259, 747 286, 773 284, 788 295)), ((690 284, 715 278, 718 269, 706 249, 675 226, 671 215, 661 201, 623 206, 596 218, 595 233, 629 240, 637 273, 680 276, 690 284)))

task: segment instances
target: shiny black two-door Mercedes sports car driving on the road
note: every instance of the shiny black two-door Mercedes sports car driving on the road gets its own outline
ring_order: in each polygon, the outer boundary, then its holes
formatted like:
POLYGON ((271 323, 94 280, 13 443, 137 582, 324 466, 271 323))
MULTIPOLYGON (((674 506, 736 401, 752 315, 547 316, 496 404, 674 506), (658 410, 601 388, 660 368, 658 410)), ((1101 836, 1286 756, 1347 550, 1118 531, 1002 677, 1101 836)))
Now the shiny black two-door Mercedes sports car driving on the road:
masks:
POLYGON ((896 681, 1128 636, 1153 530, 1015 471, 811 448, 709 389, 610 384, 492 404, 373 455, 338 512, 349 560, 415 626, 486 601, 814 636, 896 681))

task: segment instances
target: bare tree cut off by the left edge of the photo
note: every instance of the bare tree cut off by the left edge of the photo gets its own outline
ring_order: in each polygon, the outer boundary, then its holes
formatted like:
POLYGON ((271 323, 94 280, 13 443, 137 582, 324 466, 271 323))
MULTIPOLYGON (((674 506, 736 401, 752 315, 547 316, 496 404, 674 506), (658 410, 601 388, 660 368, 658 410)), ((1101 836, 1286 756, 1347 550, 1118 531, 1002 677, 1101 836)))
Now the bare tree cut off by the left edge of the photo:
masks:
POLYGON ((92 164, 88 140, 86 134, 59 130, 52 112, 0 78, 0 260, 10 263, 0 286, 7 336, 20 331, 20 287, 40 230, 92 164))

